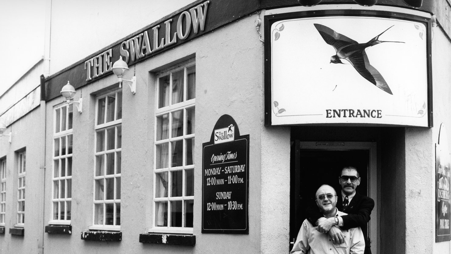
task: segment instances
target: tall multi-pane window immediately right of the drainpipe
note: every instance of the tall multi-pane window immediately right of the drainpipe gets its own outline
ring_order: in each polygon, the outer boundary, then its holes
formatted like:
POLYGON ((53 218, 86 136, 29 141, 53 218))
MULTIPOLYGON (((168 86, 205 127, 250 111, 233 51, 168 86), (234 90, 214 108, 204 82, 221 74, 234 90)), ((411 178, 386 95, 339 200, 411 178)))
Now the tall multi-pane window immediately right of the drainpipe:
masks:
POLYGON ((70 224, 72 201, 72 115, 73 105, 54 110, 53 194, 50 224, 70 224))

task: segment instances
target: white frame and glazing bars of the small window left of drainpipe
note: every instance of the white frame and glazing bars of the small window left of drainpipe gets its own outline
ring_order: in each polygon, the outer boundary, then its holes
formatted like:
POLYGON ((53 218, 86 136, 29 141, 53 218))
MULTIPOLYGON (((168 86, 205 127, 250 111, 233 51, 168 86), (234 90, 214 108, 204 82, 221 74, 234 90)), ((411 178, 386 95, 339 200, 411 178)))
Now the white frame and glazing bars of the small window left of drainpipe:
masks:
POLYGON ((26 150, 17 152, 17 209, 16 209, 16 224, 15 227, 25 226, 25 190, 26 184, 26 162, 27 162, 26 150), (20 181, 23 181, 20 184, 20 181), (22 194, 22 197, 19 197, 22 194), (20 202, 23 202, 23 211, 19 210, 20 202))

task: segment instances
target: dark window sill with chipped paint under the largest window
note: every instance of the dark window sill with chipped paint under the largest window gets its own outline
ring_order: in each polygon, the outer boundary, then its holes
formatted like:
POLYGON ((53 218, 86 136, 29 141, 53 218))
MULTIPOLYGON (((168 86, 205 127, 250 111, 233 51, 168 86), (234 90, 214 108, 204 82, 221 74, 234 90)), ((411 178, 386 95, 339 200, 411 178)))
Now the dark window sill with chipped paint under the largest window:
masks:
POLYGON ((196 244, 196 236, 146 233, 146 234, 139 234, 139 242, 140 243, 152 243, 152 244, 194 246, 196 244))

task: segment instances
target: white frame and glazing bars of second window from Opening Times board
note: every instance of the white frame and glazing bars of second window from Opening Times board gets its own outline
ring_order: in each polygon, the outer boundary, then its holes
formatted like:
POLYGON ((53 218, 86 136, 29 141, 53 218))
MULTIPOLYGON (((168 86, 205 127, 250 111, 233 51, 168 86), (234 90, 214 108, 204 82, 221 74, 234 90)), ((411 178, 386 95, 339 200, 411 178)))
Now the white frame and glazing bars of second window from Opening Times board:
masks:
MULTIPOLYGON (((117 119, 117 114, 118 114, 118 96, 119 93, 121 93, 121 96, 123 96, 122 93, 122 89, 115 89, 114 91, 108 91, 108 92, 104 92, 104 93, 100 93, 96 96, 95 98, 95 123, 94 123, 94 167, 93 167, 93 192, 92 192, 92 226, 89 226, 88 229, 89 230, 108 230, 108 231, 120 231, 120 225, 115 225, 116 223, 116 218, 117 218, 117 208, 116 205, 114 205, 113 207, 113 225, 106 225, 106 207, 105 204, 108 203, 113 203, 113 204, 119 204, 120 206, 120 199, 115 199, 116 198, 116 194, 117 194, 117 185, 116 185, 116 180, 119 178, 121 180, 121 173, 117 174, 116 170, 117 170, 117 153, 120 152, 122 153, 122 145, 120 148, 117 148, 117 143, 118 143, 118 127, 120 127, 122 129, 122 115, 120 119, 117 119), (114 119, 107 122, 107 101, 105 101, 105 112, 104 112, 104 122, 98 124, 98 111, 99 111, 99 101, 103 98, 106 98, 108 96, 111 96, 112 94, 115 94, 115 106, 114 106, 114 119), (114 143, 114 148, 108 150, 107 149, 107 130, 108 129, 115 129, 114 132, 114 139, 115 139, 115 143, 114 143), (104 140, 103 140, 103 146, 104 146, 104 150, 97 152, 97 133, 100 131, 104 131, 104 140), (99 155, 103 155, 103 166, 102 168, 105 170, 106 169, 106 154, 109 153, 113 153, 114 154, 114 174, 110 174, 110 175, 106 175, 106 172, 104 175, 98 175, 96 176, 96 167, 97 167, 97 156, 99 155), (108 177, 106 177, 108 176, 108 177), (113 199, 106 199, 106 190, 104 189, 103 191, 103 199, 101 200, 96 200, 96 180, 102 180, 103 179, 103 183, 104 183, 104 188, 106 186, 105 181, 106 179, 113 179, 113 195, 114 198, 113 199), (95 224, 96 222, 96 204, 104 204, 103 206, 103 224, 95 224)), ((121 98, 121 110, 122 110, 122 98, 121 98)), ((121 160, 122 162, 122 160, 121 160)), ((120 163, 121 163, 120 162, 120 163)), ((121 168, 121 172, 122 172, 122 166, 120 166, 121 168)), ((119 212, 120 214, 120 212, 119 212)), ((120 218, 120 217, 119 217, 120 218)))

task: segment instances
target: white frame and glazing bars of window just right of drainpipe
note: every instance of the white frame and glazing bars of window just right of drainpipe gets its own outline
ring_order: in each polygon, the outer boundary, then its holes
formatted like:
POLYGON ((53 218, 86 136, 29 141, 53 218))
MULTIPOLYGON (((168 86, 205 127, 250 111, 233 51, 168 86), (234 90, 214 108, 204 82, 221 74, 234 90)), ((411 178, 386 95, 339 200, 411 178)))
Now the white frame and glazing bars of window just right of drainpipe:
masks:
MULTIPOLYGON (((67 140, 69 139, 69 136, 70 135, 72 135, 72 146, 73 146, 73 144, 74 144, 74 121, 73 121, 73 116, 74 116, 74 106, 73 106, 73 104, 67 104, 67 103, 63 103, 63 104, 61 104, 61 105, 58 105, 58 106, 55 106, 54 107, 54 109, 53 109, 53 123, 54 123, 54 125, 53 125, 53 138, 52 138, 52 148, 53 148, 53 150, 52 150, 52 154, 53 154, 53 156, 52 156, 52 192, 51 192, 51 213, 50 213, 50 221, 49 221, 49 224, 50 225, 70 225, 70 223, 71 223, 71 220, 69 219, 67 219, 67 203, 68 202, 70 202, 71 203, 71 212, 72 212, 72 175, 73 175, 73 171, 74 171, 74 167, 73 167, 73 164, 71 165, 71 175, 67 175, 67 173, 65 173, 64 175, 65 176, 61 176, 61 172, 60 172, 60 169, 61 169, 61 159, 64 159, 64 163, 65 163, 65 166, 64 166, 64 169, 67 171, 67 165, 68 165, 68 163, 69 162, 67 162, 67 159, 68 158, 73 158, 73 155, 74 155, 74 151, 73 151, 73 148, 72 148, 72 153, 68 153, 69 152, 69 143, 67 142, 67 140), (62 121, 62 119, 63 119, 63 108, 65 108, 66 109, 66 114, 65 114, 65 116, 64 116, 64 118, 65 118, 65 125, 66 126, 64 126, 64 130, 61 130, 62 128, 62 125, 63 125, 63 121, 62 121), (56 117, 57 117, 57 111, 59 110, 59 119, 57 120, 56 119, 56 117), (72 114, 70 113, 70 112, 72 112, 72 114), (70 119, 70 117, 72 116, 72 119, 70 119), (69 124, 69 122, 71 123, 71 124, 69 124), (56 123, 59 123, 59 126, 58 126, 58 129, 56 128, 56 123), (72 126, 70 126, 70 125, 72 125, 72 126), (70 126, 70 129, 69 129, 69 126, 70 126), (66 139, 66 149, 67 149, 67 152, 65 152, 65 154, 64 155, 62 155, 61 154, 61 148, 62 148, 62 142, 61 141, 59 141, 59 149, 58 149, 58 151, 59 151, 59 155, 58 156, 55 156, 55 139, 59 139, 59 140, 61 140, 62 138, 64 138, 64 139, 66 139), (55 177, 55 160, 59 160, 59 162, 58 162, 58 166, 59 166, 59 170, 58 170, 58 176, 57 177, 55 177), (61 180, 64 180, 64 182, 65 182, 65 188, 64 188, 64 190, 65 190, 65 195, 64 195, 64 197, 65 198, 60 198, 60 194, 61 194, 61 185, 60 184, 58 184, 58 195, 59 195, 59 197, 58 198, 55 198, 55 181, 61 181, 61 180), (68 194, 68 188, 67 188, 67 182, 68 182, 68 180, 70 180, 71 181, 71 194, 70 194, 70 198, 67 198, 67 194, 68 194), (64 219, 55 219, 53 216, 54 216, 54 214, 53 214, 53 212, 54 212, 54 205, 55 205, 55 202, 58 202, 59 204, 61 203, 61 202, 64 202, 64 219)), ((73 161, 73 159, 72 159, 72 163, 73 163, 74 161, 73 161)), ((61 212, 61 209, 60 208, 58 208, 58 214, 60 214, 60 212, 61 212)), ((72 216, 71 216, 72 217, 72 216)))

